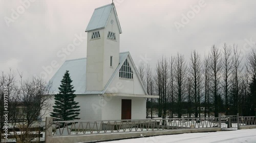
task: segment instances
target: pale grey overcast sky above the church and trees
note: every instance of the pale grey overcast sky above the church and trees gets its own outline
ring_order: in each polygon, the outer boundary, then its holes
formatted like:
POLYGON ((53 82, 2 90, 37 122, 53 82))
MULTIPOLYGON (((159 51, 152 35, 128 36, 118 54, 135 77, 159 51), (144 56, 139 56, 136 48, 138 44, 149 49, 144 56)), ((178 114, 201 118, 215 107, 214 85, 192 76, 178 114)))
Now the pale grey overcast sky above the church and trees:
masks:
MULTIPOLYGON (((86 57, 84 31, 93 11, 111 2, 0 0, 0 71, 18 69, 31 77, 44 72, 42 67, 50 70, 52 61, 61 66, 65 60, 86 57), (66 58, 57 56, 76 37, 83 37, 80 45, 66 53, 66 58)), ((123 32, 120 52, 130 51, 136 64, 146 59, 155 66, 162 55, 180 52, 188 59, 194 49, 204 56, 213 44, 222 47, 224 42, 236 43, 243 49, 248 41, 256 41, 253 0, 114 0, 114 3, 123 32)), ((58 67, 52 69, 47 79, 58 67)))

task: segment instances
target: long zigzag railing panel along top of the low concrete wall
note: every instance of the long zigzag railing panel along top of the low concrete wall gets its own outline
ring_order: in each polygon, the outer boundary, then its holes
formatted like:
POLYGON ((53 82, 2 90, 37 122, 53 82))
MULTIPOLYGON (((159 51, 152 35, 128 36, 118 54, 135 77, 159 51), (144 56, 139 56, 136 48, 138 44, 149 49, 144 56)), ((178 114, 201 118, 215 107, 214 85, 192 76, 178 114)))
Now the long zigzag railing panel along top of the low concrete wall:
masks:
POLYGON ((220 128, 219 118, 181 118, 103 121, 53 121, 54 135, 163 131, 191 128, 220 128))

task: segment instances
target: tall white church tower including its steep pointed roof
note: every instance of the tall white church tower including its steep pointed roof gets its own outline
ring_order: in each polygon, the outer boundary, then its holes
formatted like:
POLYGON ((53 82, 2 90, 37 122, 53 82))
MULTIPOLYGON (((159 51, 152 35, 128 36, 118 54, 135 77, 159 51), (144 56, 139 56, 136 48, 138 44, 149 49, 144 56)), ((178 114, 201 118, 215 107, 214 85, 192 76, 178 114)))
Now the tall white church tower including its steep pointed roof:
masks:
POLYGON ((94 10, 86 32, 86 91, 102 91, 119 64, 122 30, 114 3, 94 10))

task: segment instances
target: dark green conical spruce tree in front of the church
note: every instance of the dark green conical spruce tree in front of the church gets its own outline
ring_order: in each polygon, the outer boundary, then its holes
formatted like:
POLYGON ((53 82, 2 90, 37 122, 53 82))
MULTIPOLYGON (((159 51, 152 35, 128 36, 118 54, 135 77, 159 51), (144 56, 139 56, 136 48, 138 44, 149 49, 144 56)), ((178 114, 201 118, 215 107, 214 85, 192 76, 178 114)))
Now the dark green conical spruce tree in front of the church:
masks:
POLYGON ((53 106, 53 112, 51 112, 51 117, 55 118, 57 121, 70 121, 78 120, 79 107, 78 102, 74 99, 76 95, 75 90, 71 84, 72 80, 70 78, 69 71, 64 74, 59 89, 59 93, 55 95, 55 105, 53 106))

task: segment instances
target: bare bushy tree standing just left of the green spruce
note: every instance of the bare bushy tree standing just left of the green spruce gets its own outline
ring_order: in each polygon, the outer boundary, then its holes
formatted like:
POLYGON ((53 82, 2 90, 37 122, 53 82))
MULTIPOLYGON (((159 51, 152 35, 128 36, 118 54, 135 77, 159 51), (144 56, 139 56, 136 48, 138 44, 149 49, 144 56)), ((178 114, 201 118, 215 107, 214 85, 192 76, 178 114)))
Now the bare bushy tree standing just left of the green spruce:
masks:
POLYGON ((41 119, 49 109, 51 83, 35 77, 32 81, 24 80, 20 73, 19 77, 20 88, 17 98, 24 107, 23 117, 27 121, 27 127, 31 127, 34 121, 41 119))

